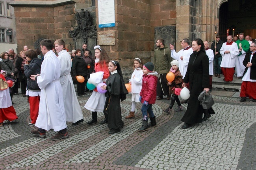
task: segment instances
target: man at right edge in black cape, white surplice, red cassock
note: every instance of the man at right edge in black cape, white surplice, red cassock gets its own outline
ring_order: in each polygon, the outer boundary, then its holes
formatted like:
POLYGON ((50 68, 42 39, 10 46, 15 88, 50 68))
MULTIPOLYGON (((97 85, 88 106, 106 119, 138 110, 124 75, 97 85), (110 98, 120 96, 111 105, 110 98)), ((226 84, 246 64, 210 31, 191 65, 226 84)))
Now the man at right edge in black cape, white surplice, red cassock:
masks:
POLYGON ((256 102, 256 43, 250 44, 250 51, 246 53, 243 65, 246 67, 243 73, 241 85, 240 102, 245 102, 246 97, 256 102))

